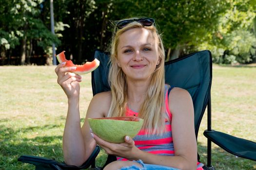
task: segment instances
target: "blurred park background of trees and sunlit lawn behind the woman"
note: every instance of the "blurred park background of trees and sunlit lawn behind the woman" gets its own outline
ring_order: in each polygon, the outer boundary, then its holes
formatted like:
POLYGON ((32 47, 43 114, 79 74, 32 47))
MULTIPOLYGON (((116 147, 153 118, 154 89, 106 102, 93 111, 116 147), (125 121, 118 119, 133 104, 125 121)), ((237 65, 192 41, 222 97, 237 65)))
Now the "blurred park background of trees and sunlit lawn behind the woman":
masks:
MULTIPOLYGON (((0 0, 0 170, 33 170, 17 161, 23 154, 63 161, 67 99, 57 84, 53 44, 82 64, 95 49, 107 51, 114 21, 126 17, 155 18, 166 61, 210 50, 213 129, 256 141, 256 0, 53 0, 54 34, 50 1, 0 0)), ((81 123, 91 98, 86 74, 81 123)), ((205 129, 206 115, 197 138, 204 164, 205 129)), ((254 161, 212 148, 217 170, 256 170, 254 161)), ((97 165, 105 158, 101 151, 97 165)))

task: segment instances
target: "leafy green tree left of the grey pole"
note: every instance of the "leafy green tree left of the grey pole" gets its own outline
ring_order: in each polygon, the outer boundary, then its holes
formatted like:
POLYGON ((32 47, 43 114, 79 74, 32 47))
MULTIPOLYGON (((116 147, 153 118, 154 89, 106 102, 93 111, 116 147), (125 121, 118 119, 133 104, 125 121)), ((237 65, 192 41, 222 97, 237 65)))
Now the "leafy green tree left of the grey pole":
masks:
POLYGON ((33 41, 42 48, 52 42, 59 43, 40 19, 41 3, 42 0, 8 0, 1 3, 0 12, 3 16, 0 23, 3 27, 0 29, 0 36, 1 39, 6 39, 11 49, 20 45, 20 52, 17 54, 20 54, 21 65, 25 64, 26 56, 31 56, 33 41))

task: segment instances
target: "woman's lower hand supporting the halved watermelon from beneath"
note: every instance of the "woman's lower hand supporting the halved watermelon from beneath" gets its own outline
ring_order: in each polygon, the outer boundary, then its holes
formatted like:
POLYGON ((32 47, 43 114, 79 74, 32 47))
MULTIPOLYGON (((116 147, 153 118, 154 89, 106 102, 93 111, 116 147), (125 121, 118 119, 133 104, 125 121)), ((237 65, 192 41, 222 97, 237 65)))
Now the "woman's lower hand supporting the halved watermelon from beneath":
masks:
POLYGON ((93 134, 96 143, 105 150, 107 154, 126 158, 128 160, 137 160, 136 153, 140 151, 134 144, 134 140, 130 136, 124 137, 123 143, 110 143, 97 135, 93 134))

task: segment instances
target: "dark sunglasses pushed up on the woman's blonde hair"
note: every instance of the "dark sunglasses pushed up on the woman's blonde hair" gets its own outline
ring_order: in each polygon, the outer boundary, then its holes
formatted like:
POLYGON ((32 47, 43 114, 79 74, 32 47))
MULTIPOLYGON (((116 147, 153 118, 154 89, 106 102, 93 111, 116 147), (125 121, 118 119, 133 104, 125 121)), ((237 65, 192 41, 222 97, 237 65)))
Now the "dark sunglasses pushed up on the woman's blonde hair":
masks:
POLYGON ((126 25, 132 23, 132 22, 139 22, 141 23, 144 27, 149 27, 152 26, 155 23, 155 19, 153 18, 139 18, 139 19, 126 19, 126 20, 121 20, 117 22, 117 28, 118 29, 122 29, 124 28, 126 25))

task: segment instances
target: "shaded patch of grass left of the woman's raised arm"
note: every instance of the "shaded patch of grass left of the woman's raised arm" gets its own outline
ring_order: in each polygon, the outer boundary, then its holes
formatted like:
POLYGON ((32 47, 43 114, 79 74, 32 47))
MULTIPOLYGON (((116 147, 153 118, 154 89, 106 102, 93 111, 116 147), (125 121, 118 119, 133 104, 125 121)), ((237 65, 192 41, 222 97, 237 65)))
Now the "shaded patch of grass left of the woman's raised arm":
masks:
POLYGON ((22 137, 24 133, 54 127, 55 125, 46 125, 14 130, 0 125, 0 170, 34 170, 34 166, 17 160, 21 155, 36 155, 62 161, 62 136, 22 137))

